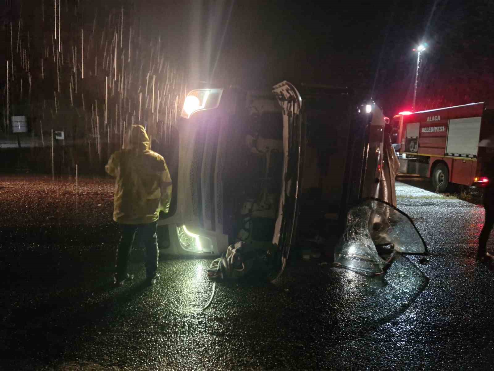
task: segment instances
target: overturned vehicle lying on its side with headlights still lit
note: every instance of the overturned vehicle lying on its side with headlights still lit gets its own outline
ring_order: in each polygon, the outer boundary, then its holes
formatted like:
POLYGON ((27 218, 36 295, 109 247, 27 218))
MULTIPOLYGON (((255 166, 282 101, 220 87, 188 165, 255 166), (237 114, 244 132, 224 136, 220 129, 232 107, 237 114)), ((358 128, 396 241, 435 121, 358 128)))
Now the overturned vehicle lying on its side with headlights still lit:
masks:
POLYGON ((174 185, 160 248, 217 256, 240 242, 282 269, 304 244, 332 254, 359 200, 396 205, 385 126, 379 107, 348 89, 284 81, 268 93, 191 91, 158 146, 174 185))

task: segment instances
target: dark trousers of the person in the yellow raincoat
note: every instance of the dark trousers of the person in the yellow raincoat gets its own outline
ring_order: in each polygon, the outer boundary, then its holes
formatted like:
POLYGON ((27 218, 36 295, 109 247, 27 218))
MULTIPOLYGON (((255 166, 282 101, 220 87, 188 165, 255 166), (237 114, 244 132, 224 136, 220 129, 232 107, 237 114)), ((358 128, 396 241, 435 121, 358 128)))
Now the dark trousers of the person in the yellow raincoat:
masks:
POLYGON ((158 271, 158 240, 156 228, 158 222, 148 224, 119 224, 120 242, 117 248, 117 262, 115 265, 118 279, 127 277, 128 261, 132 251, 135 234, 146 249, 146 277, 154 277, 158 271))

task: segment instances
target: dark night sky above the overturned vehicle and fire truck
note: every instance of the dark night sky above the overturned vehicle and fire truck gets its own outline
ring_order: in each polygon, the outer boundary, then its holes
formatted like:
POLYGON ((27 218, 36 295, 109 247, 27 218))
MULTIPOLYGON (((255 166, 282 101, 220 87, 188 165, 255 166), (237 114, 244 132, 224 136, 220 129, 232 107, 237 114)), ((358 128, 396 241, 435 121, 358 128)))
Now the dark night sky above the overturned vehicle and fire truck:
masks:
MULTIPOLYGON (((29 10, 40 1, 13 0, 12 14, 3 11, 3 19, 15 24, 21 3, 24 17, 39 17, 39 8, 30 15, 29 10)), ((101 16, 124 6, 143 38, 161 35, 167 57, 184 68, 189 87, 269 88, 282 80, 348 86, 392 116, 411 108, 412 48, 424 41, 429 48, 422 55, 417 109, 494 97, 494 4, 488 0, 62 3, 68 9, 80 4, 86 29, 95 12, 101 16)), ((44 4, 48 12, 53 1, 44 4)), ((28 24, 24 19, 25 29, 28 24)), ((4 30, 5 57, 8 26, 4 30)))

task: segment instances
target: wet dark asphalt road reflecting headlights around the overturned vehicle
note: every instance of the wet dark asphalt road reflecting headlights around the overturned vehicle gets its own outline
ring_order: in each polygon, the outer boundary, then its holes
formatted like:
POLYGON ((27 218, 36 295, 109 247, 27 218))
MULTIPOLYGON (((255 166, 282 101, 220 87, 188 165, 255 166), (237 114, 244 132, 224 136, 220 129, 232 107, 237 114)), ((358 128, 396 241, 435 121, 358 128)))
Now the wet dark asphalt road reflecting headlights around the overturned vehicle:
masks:
MULTIPOLYGON (((15 184, 2 178, 2 202, 15 184)), ((10 228, 22 218, 11 205, 0 240, 0 369, 492 370, 494 276, 475 260, 483 209, 416 185, 397 184, 398 207, 427 242, 427 264, 401 256, 368 278, 293 255, 274 284, 219 282, 204 312, 211 259, 162 255, 161 279, 145 287, 137 249, 134 282, 112 289, 114 226, 86 221, 82 233, 48 218, 33 236, 10 228)), ((109 192, 98 185, 89 198, 106 210, 109 192)))

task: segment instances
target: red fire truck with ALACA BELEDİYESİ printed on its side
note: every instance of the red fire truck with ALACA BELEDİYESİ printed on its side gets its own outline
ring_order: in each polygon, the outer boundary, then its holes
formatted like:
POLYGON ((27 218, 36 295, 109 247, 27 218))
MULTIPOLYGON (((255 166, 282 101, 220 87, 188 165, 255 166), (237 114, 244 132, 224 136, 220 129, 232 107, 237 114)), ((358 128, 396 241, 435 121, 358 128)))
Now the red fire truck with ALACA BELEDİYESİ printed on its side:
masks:
MULTIPOLYGON (((493 107, 494 108, 494 107, 493 107)), ((400 143, 400 173, 430 177, 434 190, 450 183, 485 186, 486 164, 494 156, 494 109, 486 102, 393 117, 393 142, 400 143)))

